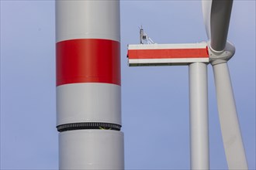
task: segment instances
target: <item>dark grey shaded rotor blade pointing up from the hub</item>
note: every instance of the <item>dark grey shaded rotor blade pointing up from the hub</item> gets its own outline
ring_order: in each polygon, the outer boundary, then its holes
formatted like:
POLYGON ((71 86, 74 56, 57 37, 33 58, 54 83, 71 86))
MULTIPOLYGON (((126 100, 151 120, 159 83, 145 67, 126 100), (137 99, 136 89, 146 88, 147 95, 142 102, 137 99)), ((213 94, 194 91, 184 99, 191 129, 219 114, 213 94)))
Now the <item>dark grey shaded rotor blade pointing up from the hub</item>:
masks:
POLYGON ((210 47, 223 51, 227 42, 233 0, 213 0, 210 14, 210 47))

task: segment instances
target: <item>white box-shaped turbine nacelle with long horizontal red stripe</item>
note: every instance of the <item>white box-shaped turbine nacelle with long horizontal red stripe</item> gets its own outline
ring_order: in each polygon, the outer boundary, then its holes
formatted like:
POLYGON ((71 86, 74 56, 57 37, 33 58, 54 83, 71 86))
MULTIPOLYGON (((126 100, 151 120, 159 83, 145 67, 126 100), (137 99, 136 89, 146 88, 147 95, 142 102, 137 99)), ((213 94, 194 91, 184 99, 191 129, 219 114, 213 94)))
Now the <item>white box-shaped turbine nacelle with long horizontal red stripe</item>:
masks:
POLYGON ((209 63, 206 42, 189 44, 137 44, 128 46, 129 66, 178 66, 209 63))

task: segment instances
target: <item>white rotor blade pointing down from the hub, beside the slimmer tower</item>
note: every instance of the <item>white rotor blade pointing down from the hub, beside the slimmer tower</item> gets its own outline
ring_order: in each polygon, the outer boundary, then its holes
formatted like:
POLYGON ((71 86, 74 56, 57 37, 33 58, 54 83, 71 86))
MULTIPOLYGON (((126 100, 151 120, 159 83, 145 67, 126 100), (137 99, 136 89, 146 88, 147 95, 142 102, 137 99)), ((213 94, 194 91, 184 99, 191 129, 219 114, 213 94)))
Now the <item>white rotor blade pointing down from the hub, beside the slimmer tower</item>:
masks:
POLYGON ((237 109, 227 63, 213 66, 220 128, 229 169, 247 169, 237 109))

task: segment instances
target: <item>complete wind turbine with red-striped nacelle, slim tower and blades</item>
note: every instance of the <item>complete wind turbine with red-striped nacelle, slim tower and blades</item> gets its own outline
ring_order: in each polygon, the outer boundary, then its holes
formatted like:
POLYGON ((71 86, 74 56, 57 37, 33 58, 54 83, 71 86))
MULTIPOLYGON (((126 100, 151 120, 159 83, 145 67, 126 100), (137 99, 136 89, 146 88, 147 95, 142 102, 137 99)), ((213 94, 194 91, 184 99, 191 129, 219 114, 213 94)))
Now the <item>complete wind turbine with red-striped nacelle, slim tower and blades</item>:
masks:
MULTIPOLYGON (((128 46, 130 66, 189 66, 190 158, 192 169, 209 169, 207 64, 213 66, 223 145, 230 169, 247 169, 227 61, 235 47, 227 41, 233 0, 202 0, 208 42, 128 46)), ((140 31, 141 32, 141 31, 140 31)), ((140 37, 143 37, 140 35, 140 37)))

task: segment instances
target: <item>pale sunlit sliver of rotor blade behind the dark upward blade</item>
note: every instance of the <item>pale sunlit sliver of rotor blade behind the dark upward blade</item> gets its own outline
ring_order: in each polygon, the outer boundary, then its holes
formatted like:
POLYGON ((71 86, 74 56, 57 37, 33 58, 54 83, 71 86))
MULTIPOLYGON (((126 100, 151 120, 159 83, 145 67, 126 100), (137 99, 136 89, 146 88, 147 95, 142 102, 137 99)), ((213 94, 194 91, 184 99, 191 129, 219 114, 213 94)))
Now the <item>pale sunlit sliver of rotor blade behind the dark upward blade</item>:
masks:
POLYGON ((211 14, 211 8, 212 8, 212 0, 205 1, 202 0, 202 16, 203 16, 203 22, 206 26, 206 34, 208 39, 210 39, 210 14, 211 14))

